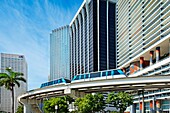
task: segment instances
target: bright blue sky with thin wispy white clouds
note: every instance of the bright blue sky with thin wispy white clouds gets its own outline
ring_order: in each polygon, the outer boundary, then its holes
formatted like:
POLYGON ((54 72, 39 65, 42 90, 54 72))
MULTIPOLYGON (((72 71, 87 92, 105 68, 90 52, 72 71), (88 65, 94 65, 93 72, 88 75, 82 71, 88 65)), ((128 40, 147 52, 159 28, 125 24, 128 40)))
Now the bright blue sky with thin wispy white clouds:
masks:
POLYGON ((0 0, 0 53, 23 54, 28 89, 48 80, 51 30, 69 24, 83 0, 0 0))

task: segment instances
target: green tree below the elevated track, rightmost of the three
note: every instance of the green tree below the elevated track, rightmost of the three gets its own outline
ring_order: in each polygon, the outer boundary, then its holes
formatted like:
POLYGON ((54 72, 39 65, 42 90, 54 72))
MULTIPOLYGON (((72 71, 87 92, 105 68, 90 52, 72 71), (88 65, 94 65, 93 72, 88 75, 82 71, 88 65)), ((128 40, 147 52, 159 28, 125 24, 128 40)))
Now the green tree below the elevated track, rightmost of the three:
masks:
POLYGON ((108 94, 107 103, 112 104, 114 107, 120 110, 120 113, 124 113, 126 108, 133 104, 133 98, 126 92, 110 93, 108 94))

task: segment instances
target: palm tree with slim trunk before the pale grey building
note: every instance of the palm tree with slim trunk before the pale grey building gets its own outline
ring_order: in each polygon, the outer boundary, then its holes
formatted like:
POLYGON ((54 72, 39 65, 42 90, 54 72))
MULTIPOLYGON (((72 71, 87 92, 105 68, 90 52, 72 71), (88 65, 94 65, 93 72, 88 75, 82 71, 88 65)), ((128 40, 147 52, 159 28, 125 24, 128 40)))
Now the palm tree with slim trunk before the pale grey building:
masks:
POLYGON ((20 82, 26 82, 22 77, 23 73, 14 72, 11 68, 6 68, 7 73, 0 73, 0 86, 5 86, 7 90, 11 91, 12 95, 12 113, 14 113, 14 87, 20 87, 20 82))

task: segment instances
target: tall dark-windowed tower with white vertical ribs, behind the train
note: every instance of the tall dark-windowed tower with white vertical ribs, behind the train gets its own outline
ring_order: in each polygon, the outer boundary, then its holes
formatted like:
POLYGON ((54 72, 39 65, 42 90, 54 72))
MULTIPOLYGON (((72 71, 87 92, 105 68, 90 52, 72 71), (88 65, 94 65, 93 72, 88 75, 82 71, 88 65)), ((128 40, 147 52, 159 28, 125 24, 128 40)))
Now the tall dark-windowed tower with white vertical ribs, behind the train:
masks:
POLYGON ((84 0, 70 38, 71 77, 116 68, 116 0, 84 0))

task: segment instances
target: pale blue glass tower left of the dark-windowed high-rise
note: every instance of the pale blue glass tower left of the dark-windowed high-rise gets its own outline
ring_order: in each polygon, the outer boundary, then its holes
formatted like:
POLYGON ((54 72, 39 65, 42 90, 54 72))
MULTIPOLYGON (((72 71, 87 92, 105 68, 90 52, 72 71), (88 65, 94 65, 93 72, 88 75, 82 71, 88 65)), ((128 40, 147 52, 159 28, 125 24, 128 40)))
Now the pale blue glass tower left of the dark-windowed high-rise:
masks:
POLYGON ((50 34, 49 80, 59 79, 61 77, 70 79, 69 42, 69 26, 55 29, 50 34))

